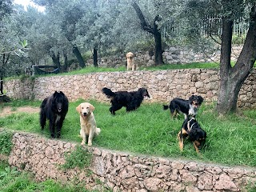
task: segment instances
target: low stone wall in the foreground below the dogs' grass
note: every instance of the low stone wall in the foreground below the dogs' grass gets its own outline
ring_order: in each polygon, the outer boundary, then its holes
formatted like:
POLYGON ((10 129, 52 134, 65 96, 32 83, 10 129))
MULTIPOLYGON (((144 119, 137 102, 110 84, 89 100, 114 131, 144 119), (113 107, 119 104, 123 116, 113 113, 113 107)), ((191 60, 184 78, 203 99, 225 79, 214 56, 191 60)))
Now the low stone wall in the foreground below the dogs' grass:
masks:
POLYGON ((170 158, 146 157, 90 147, 93 162, 91 174, 86 170, 60 170, 64 154, 74 150, 77 143, 40 138, 35 134, 16 133, 9 163, 28 170, 35 178, 66 182, 86 182, 95 189, 98 181, 113 191, 246 191, 256 182, 256 170, 241 166, 209 165, 170 158))

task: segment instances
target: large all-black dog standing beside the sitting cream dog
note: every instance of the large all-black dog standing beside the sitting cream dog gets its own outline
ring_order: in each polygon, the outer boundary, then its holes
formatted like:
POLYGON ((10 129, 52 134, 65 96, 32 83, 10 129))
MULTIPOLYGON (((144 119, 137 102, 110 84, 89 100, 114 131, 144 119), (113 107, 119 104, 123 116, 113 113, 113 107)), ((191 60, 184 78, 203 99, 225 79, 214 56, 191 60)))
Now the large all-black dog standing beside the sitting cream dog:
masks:
POLYGON ((66 95, 55 91, 50 97, 45 98, 41 104, 40 125, 42 130, 46 126, 46 119, 49 119, 50 136, 55 138, 55 126, 57 126, 57 138, 61 136, 62 124, 69 107, 66 95))

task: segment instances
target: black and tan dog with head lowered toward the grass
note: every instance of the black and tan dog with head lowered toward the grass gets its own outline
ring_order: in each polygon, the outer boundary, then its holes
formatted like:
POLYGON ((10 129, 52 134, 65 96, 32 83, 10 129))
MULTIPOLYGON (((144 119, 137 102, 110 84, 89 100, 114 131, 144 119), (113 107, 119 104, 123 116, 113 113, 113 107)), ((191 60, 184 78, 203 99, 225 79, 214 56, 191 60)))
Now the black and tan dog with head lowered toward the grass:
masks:
POLYGON ((193 142, 194 149, 199 153, 198 147, 202 147, 206 142, 206 131, 202 130, 195 118, 187 118, 182 124, 182 129, 178 132, 179 148, 183 150, 183 140, 189 136, 190 141, 193 142))

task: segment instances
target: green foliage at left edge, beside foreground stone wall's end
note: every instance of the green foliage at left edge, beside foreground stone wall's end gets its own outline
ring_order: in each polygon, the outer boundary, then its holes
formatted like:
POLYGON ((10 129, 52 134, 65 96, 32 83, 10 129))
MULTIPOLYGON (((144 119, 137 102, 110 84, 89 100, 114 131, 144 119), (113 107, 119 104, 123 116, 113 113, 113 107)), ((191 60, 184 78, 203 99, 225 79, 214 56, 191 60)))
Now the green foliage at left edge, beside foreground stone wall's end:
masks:
POLYGON ((10 130, 0 130, 0 154, 10 154, 11 147, 13 146, 11 142, 12 136, 13 133, 10 130))

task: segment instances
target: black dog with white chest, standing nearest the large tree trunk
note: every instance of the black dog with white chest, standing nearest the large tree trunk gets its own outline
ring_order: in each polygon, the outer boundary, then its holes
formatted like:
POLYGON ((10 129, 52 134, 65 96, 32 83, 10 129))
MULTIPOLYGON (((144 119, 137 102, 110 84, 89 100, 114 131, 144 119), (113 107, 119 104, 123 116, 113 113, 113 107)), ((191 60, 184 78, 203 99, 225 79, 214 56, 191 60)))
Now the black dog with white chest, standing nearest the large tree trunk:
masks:
POLYGON ((172 117, 176 116, 177 113, 185 115, 195 116, 198 113, 198 108, 201 106, 203 98, 198 95, 192 95, 189 100, 182 98, 174 98, 170 101, 169 106, 163 106, 164 110, 170 108, 170 114, 172 117))

